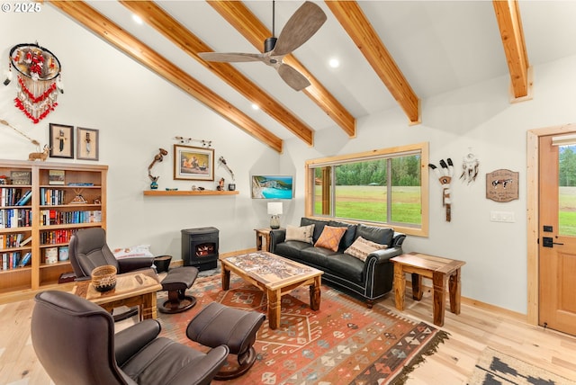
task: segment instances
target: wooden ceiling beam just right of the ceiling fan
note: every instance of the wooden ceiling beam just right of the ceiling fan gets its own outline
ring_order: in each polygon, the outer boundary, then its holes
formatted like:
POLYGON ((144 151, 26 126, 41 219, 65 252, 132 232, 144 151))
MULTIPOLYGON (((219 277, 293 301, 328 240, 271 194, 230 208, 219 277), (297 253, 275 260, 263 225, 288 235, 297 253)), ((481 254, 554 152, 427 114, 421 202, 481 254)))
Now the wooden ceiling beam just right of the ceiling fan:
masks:
POLYGON ((330 11, 382 79, 410 123, 419 123, 419 98, 356 1, 326 0, 330 11))

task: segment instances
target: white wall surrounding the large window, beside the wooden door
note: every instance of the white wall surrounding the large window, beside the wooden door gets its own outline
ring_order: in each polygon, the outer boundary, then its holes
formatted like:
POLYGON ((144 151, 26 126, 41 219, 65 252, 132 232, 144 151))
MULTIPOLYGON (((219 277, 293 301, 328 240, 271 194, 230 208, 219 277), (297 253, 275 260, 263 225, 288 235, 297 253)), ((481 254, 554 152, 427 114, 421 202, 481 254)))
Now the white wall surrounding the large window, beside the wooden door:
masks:
MULTIPOLYGON (((509 103, 509 77, 493 79, 422 101, 422 124, 409 126, 400 109, 359 119, 356 139, 317 133, 316 148, 298 140, 285 143, 281 167, 298 171, 303 185, 305 160, 363 152, 422 141, 429 142, 430 163, 451 157, 458 170, 473 152, 480 175, 473 184, 453 182, 452 221, 446 222, 441 190, 430 175, 429 237, 408 237, 406 251, 461 259, 465 297, 520 313, 527 312, 527 130, 576 121, 576 57, 534 68, 534 99, 509 103), (519 172, 519 199, 496 202, 485 198, 485 175, 505 168, 519 172), (491 222, 491 210, 511 211, 514 223, 491 222)), ((299 191, 293 218, 303 211, 299 191)))

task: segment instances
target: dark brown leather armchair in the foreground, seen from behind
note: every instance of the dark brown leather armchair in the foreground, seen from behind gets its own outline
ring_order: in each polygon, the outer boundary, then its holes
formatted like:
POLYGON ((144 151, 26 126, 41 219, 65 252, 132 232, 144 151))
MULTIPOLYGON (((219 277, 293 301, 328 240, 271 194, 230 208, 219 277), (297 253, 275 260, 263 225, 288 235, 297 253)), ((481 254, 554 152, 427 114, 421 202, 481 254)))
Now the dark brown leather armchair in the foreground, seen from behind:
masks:
POLYGON ((158 337, 146 319, 114 335, 112 316, 65 291, 36 295, 31 340, 55 384, 209 384, 229 354, 226 345, 207 354, 158 337))

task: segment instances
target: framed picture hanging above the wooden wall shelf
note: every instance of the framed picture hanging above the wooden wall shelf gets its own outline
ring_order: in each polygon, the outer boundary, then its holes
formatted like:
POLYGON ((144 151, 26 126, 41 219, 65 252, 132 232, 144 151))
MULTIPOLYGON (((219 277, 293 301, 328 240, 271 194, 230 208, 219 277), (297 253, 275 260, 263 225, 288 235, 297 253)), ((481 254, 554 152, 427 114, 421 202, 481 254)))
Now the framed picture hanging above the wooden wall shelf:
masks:
POLYGON ((174 179, 214 180, 214 149, 174 145, 174 179))

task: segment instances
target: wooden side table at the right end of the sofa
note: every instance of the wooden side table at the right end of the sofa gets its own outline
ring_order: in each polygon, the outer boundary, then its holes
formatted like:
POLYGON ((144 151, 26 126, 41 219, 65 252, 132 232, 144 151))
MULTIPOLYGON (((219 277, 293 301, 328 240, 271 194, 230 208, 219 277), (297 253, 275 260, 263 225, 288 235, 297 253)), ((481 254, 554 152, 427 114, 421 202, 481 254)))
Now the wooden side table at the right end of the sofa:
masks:
POLYGON ((444 325, 446 284, 450 294, 450 311, 460 314, 460 268, 466 264, 464 261, 420 253, 398 255, 390 260, 394 264, 396 309, 404 310, 404 295, 406 294, 405 273, 411 273, 412 298, 414 300, 422 300, 422 277, 432 280, 434 295, 432 310, 435 325, 439 327, 444 325))

